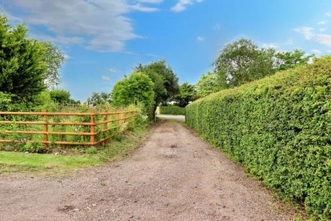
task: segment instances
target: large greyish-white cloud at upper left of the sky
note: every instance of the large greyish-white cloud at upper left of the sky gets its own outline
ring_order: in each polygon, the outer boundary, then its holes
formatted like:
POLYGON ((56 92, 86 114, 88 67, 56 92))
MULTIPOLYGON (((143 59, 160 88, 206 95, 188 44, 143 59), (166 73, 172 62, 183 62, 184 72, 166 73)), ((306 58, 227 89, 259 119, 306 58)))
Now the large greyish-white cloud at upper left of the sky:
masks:
MULTIPOLYGON (((152 12, 156 8, 130 5, 126 0, 2 0, 23 10, 23 21, 45 27, 49 39, 61 44, 84 44, 91 50, 119 52, 126 41, 140 38, 126 14, 132 10, 152 12)), ((140 0, 158 3, 160 0, 140 0)), ((6 5, 5 4, 5 5, 6 5)), ((36 33, 34 33, 36 35, 36 33)))

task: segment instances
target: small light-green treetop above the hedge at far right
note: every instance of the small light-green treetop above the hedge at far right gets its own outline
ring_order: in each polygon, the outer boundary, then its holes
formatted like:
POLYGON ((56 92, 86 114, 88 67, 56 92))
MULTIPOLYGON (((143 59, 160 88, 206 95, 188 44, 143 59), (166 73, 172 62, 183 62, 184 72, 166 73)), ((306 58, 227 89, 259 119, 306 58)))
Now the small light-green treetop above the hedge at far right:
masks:
POLYGON ((306 55, 303 50, 295 49, 293 51, 277 52, 275 57, 276 71, 287 70, 295 68, 296 66, 308 64, 308 61, 314 55, 306 55))

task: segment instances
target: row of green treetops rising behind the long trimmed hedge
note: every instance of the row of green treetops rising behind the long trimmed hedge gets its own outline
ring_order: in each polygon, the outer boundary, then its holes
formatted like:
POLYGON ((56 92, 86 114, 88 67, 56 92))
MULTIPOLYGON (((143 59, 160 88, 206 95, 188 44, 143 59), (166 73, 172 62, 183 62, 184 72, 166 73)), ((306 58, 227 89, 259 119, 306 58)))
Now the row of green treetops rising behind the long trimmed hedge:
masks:
POLYGON ((308 64, 314 55, 302 50, 276 52, 273 48, 259 48, 250 39, 239 39, 227 44, 214 61, 214 72, 202 75, 197 83, 197 94, 205 97, 225 88, 274 75, 308 64))

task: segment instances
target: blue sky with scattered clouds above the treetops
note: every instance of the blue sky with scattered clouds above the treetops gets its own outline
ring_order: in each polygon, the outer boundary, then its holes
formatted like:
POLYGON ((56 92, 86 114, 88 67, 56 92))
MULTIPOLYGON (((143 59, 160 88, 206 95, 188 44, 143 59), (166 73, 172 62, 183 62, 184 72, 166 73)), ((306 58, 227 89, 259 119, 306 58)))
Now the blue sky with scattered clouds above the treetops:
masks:
POLYGON ((66 54, 60 88, 85 101, 139 63, 165 59, 196 83, 241 37, 276 50, 331 53, 330 0, 0 0, 12 23, 66 54))

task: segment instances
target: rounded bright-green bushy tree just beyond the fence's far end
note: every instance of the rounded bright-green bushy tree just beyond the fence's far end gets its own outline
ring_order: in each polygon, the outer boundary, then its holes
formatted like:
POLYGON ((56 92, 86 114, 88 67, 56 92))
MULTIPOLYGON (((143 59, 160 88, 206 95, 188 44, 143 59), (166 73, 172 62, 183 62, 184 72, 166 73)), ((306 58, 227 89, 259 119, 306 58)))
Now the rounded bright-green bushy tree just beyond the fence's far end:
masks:
POLYGON ((130 77, 117 81, 112 89, 112 104, 114 106, 128 106, 143 104, 150 113, 153 109, 154 84, 144 73, 134 72, 130 77))

